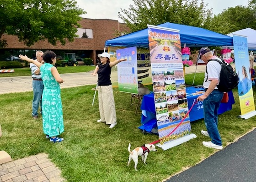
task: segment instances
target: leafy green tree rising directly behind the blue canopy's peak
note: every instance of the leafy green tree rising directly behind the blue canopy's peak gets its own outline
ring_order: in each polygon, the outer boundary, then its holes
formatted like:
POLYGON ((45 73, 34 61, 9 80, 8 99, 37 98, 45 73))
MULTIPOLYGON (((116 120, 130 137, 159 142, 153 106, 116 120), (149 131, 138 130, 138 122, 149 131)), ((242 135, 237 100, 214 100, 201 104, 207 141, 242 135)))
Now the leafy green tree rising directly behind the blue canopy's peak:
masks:
POLYGON ((159 25, 172 22, 181 25, 203 27, 212 19, 212 9, 206 9, 203 0, 133 0, 134 5, 121 9, 118 17, 131 31, 147 28, 147 24, 159 25), (198 5, 199 4, 199 5, 198 5))

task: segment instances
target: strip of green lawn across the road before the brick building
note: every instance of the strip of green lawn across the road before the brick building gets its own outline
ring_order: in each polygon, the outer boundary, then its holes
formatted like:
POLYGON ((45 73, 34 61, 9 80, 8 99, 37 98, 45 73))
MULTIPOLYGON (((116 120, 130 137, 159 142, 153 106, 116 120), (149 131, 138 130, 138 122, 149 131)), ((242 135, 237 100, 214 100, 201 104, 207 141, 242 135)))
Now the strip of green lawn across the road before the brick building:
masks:
MULTIPOLYGON (((63 73, 80 73, 92 71, 95 69, 95 66, 68 66, 68 67, 57 67, 60 74, 63 73)), ((8 76, 31 76, 30 68, 14 68, 13 73, 0 73, 0 77, 8 77, 8 76)))

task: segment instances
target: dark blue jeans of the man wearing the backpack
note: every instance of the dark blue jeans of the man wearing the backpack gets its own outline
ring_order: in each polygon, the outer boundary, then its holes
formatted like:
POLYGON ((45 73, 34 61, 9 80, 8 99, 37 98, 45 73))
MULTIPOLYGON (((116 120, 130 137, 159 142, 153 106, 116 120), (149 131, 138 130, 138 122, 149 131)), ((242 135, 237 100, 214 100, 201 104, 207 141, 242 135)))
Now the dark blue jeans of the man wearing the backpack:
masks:
POLYGON ((222 145, 218 130, 218 109, 222 100, 223 92, 213 90, 213 92, 203 100, 204 123, 212 143, 222 145))

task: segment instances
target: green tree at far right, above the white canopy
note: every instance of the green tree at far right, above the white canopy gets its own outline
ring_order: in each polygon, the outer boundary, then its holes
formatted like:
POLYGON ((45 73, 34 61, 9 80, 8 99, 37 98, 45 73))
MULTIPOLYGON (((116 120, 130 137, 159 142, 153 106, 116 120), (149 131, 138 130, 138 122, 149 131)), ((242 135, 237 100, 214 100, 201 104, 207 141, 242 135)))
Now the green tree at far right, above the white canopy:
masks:
POLYGON ((255 6, 239 5, 225 9, 219 15, 215 15, 207 28, 228 34, 248 27, 256 29, 256 8, 255 6))

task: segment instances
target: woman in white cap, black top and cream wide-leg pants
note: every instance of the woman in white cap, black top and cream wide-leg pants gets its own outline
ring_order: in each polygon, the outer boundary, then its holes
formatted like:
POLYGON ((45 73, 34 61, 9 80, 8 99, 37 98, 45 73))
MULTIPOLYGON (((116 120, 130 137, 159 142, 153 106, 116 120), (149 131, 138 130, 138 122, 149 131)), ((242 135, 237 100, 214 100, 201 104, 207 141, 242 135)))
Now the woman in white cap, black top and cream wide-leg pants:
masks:
POLYGON ((97 122, 106 122, 110 125, 109 128, 113 128, 117 125, 116 107, 112 89, 112 83, 110 81, 111 67, 126 61, 126 59, 120 59, 110 62, 110 55, 107 52, 99 55, 101 63, 96 66, 92 75, 98 73, 98 98, 99 98, 99 110, 101 119, 97 122))

